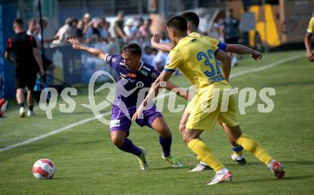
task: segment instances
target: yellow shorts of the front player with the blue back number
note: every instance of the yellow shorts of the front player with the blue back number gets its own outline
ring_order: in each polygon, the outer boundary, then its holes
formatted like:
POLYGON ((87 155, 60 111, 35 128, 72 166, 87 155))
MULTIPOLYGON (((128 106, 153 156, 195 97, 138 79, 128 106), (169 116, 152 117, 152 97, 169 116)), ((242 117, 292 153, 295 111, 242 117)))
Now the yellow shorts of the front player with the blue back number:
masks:
POLYGON ((213 130, 217 120, 221 120, 223 125, 229 127, 239 125, 235 95, 226 98, 226 93, 223 95, 222 88, 216 89, 220 90, 219 93, 213 89, 207 90, 197 94, 188 103, 186 112, 190 113, 190 116, 186 122, 186 128, 190 130, 213 130))

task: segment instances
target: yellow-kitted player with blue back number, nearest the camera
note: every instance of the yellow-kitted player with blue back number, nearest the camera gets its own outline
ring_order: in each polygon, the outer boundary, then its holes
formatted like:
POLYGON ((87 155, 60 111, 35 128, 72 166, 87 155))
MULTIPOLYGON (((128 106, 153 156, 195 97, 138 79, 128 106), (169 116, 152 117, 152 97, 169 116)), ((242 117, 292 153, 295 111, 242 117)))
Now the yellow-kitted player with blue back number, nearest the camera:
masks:
POLYGON ((229 94, 226 99, 222 93, 231 92, 231 86, 228 84, 231 71, 230 56, 211 45, 204 38, 188 36, 187 26, 187 21, 183 16, 173 16, 168 20, 168 36, 175 47, 169 53, 170 57, 164 70, 153 83, 151 90, 136 110, 132 120, 141 116, 146 105, 158 94, 163 83, 171 78, 176 68, 179 68, 195 86, 197 98, 186 123, 183 141, 203 162, 215 170, 216 175, 209 185, 232 179, 231 172, 223 166, 215 154, 200 139, 203 131, 213 130, 217 120, 221 120, 223 125, 231 129, 227 135, 232 142, 236 142, 248 152, 253 153, 270 168, 276 178, 283 178, 285 174, 283 164, 275 161, 255 139, 241 131, 234 95, 229 94), (216 59, 222 61, 222 71, 216 65, 216 59))

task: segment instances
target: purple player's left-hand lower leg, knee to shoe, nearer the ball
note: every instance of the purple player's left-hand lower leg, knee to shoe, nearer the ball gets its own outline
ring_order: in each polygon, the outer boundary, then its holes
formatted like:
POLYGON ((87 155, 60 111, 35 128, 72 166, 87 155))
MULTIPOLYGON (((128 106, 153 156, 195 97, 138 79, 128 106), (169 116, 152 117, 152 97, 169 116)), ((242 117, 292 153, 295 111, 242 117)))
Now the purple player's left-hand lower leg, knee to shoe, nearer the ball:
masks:
POLYGON ((140 164, 140 169, 148 169, 148 164, 146 162, 146 149, 137 147, 131 139, 126 137, 126 132, 123 130, 115 130, 110 132, 111 141, 113 144, 124 152, 134 154, 138 157, 138 162, 140 164))

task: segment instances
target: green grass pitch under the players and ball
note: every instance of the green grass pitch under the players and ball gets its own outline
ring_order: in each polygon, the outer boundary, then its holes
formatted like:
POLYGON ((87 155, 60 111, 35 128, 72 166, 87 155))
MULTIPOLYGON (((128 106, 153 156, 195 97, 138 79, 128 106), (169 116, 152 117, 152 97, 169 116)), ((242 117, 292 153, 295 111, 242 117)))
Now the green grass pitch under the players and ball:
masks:
MULTIPOLYGON (((266 54, 255 62, 243 58, 232 73, 253 70, 303 51, 266 54)), ((187 87, 183 76, 173 78, 173 83, 187 87)), ((206 186, 213 171, 190 173, 197 161, 178 132, 181 113, 171 113, 164 107, 163 115, 173 134, 172 154, 184 164, 183 169, 173 169, 161 158, 161 147, 156 132, 137 125, 131 127, 131 139, 148 149, 150 169, 138 170, 136 157, 121 152, 113 146, 108 125, 92 120, 56 135, 0 152, 0 194, 313 194, 314 193, 314 63, 306 57, 256 73, 231 78, 233 87, 240 89, 275 88, 270 96, 274 110, 258 112, 257 101, 240 115, 243 131, 253 136, 286 169, 285 178, 275 180, 270 170, 245 152, 248 164, 240 166, 231 161, 231 148, 221 127, 205 132, 202 137, 219 159, 233 173, 228 184, 206 186), (54 179, 38 180, 31 173, 37 159, 48 158, 56 164, 54 179)), ((0 148, 23 142, 71 123, 93 117, 91 110, 82 107, 88 103, 86 85, 74 97, 76 110, 61 113, 59 97, 53 119, 36 106, 36 116, 19 118, 15 100, 10 100, 6 117, 0 118, 0 148)), ((101 102, 106 93, 97 93, 101 102)), ((176 97, 180 104, 186 101, 176 97)), ((165 101, 168 102, 167 100, 165 101)), ((103 112, 110 111, 107 107, 103 112)), ((109 119, 110 115, 106 118, 109 119)))

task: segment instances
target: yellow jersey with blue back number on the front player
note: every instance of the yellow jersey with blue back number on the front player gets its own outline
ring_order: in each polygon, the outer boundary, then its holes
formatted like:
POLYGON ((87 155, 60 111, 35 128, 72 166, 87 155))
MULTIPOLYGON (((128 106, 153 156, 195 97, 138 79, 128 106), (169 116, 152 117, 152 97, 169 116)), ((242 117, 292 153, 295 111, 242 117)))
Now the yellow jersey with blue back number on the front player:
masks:
POLYGON ((186 36, 171 50, 163 70, 180 69, 196 90, 216 84, 228 85, 216 63, 218 51, 217 43, 200 36, 186 36))

